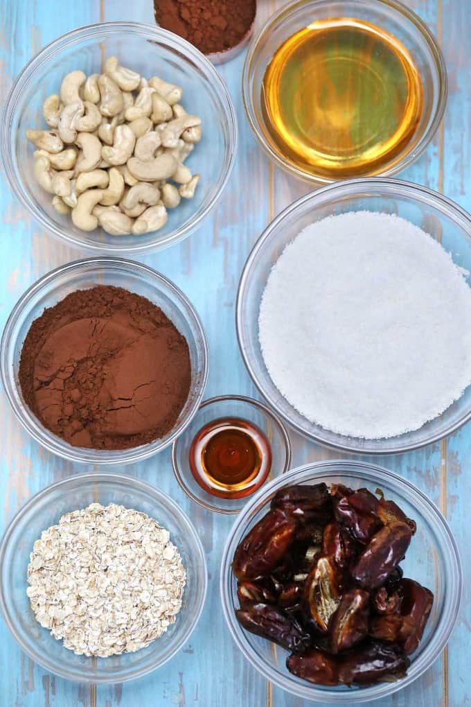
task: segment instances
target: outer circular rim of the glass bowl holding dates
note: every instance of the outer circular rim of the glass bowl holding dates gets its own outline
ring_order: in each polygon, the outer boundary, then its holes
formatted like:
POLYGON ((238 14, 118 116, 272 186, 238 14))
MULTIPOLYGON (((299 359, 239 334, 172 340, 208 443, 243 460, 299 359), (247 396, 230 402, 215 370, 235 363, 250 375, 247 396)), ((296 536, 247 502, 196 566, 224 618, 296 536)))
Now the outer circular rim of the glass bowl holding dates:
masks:
POLYGON ((345 701, 352 704, 363 703, 379 699, 381 697, 384 698, 393 694, 394 692, 397 692, 400 689, 403 689, 407 685, 410 685, 418 677, 420 677, 439 656, 451 636, 451 632, 455 627, 460 612, 460 607, 463 602, 463 562, 460 557, 460 552, 458 551, 458 545, 456 544, 453 533, 451 532, 451 528, 448 525, 448 521, 443 516, 443 513, 441 513, 441 510, 439 510, 436 504, 431 501, 431 499, 423 491, 421 491, 418 486, 415 486, 415 484, 412 484, 411 481, 405 479, 399 474, 390 471, 390 469, 378 466, 377 464, 363 462, 361 460, 331 459, 320 462, 309 462, 307 464, 302 464, 299 467, 291 469, 290 472, 285 474, 283 477, 273 479, 273 481, 270 481, 268 484, 266 484, 266 486, 263 486, 262 489, 257 491, 250 499, 250 501, 246 503, 244 509, 237 516, 237 519, 229 530, 229 534, 227 536, 224 549, 222 551, 219 587, 222 603, 222 613, 224 614, 227 626, 229 627, 229 632, 231 633, 231 636, 234 639, 237 648, 239 648, 239 650, 244 655, 244 658, 246 658, 246 660, 249 660, 251 665, 254 665, 256 670, 258 670, 258 672, 260 672, 263 677, 268 679, 270 682, 273 682, 274 684, 278 685, 278 687, 288 691, 290 694, 302 697, 304 699, 310 699, 311 701, 328 701, 329 703, 341 704, 345 704, 345 701), (232 583, 232 558, 229 557, 229 551, 231 549, 231 545, 234 542, 234 537, 236 536, 237 532, 239 532, 242 527, 246 529, 246 519, 248 518, 252 510, 254 510, 256 506, 265 505, 270 492, 275 491, 284 485, 290 484, 293 479, 295 479, 296 482, 302 483, 302 476, 306 476, 308 472, 311 472, 311 476, 318 475, 319 477, 328 475, 329 472, 332 476, 341 476, 342 470, 344 472, 350 472, 352 474, 355 474, 355 469, 357 469, 358 472, 362 474, 362 480, 367 478, 373 483, 380 484, 382 480, 392 481, 395 486, 398 486, 400 488, 401 492, 411 493, 412 498, 418 497, 419 501, 421 501, 424 506, 427 507, 427 510, 429 510, 431 514, 434 515, 434 520, 436 520, 436 522, 441 525, 441 530, 443 530, 443 535, 444 537, 446 537, 446 541, 448 543, 447 549, 451 549, 451 552, 453 554, 452 565, 455 571, 455 585, 453 585, 454 592, 451 596, 451 599, 448 600, 453 602, 453 612, 451 615, 451 620, 449 621, 448 626, 446 626, 446 629, 443 631, 441 641, 434 647, 434 650, 429 651, 427 660, 423 660, 422 656, 422 665, 419 666, 419 672, 413 676, 411 676, 410 672, 408 672, 405 677, 401 678, 395 683, 380 682, 372 686, 359 688, 356 691, 350 691, 348 694, 345 691, 335 691, 335 689, 319 690, 315 685, 312 685, 308 682, 299 686, 294 686, 294 689, 290 689, 290 687, 287 686, 287 684, 285 684, 282 679, 280 679, 280 677, 278 677, 277 672, 275 672, 275 670, 272 670, 271 667, 266 664, 266 662, 263 660, 263 658, 261 658, 260 655, 254 653, 241 638, 241 636, 244 636, 244 630, 239 626, 237 619, 235 619, 235 614, 232 611, 232 602, 230 600, 232 596, 229 586, 230 583, 232 583), (229 577, 229 582, 226 581, 227 577, 229 577), (309 691, 313 691, 313 694, 309 694, 309 691))

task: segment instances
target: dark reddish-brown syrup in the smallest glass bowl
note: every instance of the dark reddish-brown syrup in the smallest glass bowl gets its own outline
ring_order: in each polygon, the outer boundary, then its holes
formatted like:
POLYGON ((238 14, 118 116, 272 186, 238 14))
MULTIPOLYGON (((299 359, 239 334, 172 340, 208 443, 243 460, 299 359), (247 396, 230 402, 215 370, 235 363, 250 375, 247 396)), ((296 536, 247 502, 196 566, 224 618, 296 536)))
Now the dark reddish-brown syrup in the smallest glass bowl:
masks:
POLYGON ((270 473, 270 444, 246 420, 216 419, 193 439, 190 468, 201 488, 213 496, 244 498, 259 489, 270 473))

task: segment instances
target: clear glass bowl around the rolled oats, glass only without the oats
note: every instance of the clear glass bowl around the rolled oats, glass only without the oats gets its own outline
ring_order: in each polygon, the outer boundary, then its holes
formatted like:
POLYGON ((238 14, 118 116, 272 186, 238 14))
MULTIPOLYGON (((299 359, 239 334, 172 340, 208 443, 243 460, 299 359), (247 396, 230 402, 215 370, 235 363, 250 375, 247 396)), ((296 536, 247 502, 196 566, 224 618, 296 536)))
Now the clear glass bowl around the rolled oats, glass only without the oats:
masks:
POLYGON ((0 547, 0 607, 22 650, 46 670, 78 682, 117 683, 164 665, 189 640, 205 602, 208 573, 201 541, 172 498, 138 479, 119 474, 84 474, 57 481, 33 496, 13 518, 0 547), (148 648, 109 658, 75 655, 37 623, 26 595, 32 545, 64 513, 90 503, 118 503, 140 510, 170 532, 186 568, 183 604, 176 620, 148 648))

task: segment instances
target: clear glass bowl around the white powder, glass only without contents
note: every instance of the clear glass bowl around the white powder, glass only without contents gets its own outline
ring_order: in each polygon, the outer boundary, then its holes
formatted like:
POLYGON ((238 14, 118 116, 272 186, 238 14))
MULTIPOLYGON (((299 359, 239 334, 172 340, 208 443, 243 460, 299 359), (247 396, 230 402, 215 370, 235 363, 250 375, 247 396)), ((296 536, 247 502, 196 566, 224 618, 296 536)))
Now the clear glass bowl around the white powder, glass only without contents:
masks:
MULTIPOLYGON (((258 390, 297 432, 327 447, 354 454, 393 454, 431 444, 471 419, 471 386, 443 414, 418 430, 397 437, 366 440, 331 432, 309 422, 282 397, 266 369, 258 341, 258 312, 268 275, 281 252, 302 228, 347 211, 384 211, 412 221, 439 240, 455 264, 471 271, 471 217, 431 189, 382 177, 322 187, 294 201, 262 233, 246 262, 237 295, 237 337, 242 357, 258 390)), ((470 274, 467 282, 471 284, 470 274)))

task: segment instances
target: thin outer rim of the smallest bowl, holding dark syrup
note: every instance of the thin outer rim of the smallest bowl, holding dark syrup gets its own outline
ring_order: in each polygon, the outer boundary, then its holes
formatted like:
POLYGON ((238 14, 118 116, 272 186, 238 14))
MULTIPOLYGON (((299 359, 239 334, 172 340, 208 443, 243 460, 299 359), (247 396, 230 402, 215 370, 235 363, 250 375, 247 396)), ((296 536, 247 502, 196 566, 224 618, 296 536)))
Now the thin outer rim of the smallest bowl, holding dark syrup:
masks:
MULTIPOLYGON (((198 412, 205 408, 209 407, 213 403, 218 403, 218 402, 226 402, 227 400, 237 400, 237 402, 244 402, 248 405, 251 405, 253 407, 258 408, 265 414, 268 418, 271 418, 277 423, 279 431, 281 433, 281 437, 283 442, 285 443, 285 452, 286 452, 286 459, 285 459, 285 465, 282 469, 282 472, 280 476, 283 476, 283 474, 286 474, 288 469, 290 469, 290 464, 291 464, 291 442, 290 442, 290 436, 288 435, 285 423, 282 421, 280 416, 273 410, 272 408, 268 407, 267 405, 263 404, 263 402, 260 402, 260 400, 256 400, 255 398, 248 397, 246 395, 216 395, 215 397, 210 397, 206 398, 203 400, 201 405, 198 407, 198 410, 196 411, 195 416, 193 417, 192 421, 196 418, 198 415, 198 412)), ((220 508, 219 506, 215 506, 207 501, 203 501, 202 498, 198 498, 196 496, 196 493, 193 493, 189 486, 186 485, 184 481, 184 475, 181 472, 181 469, 178 464, 177 460, 177 450, 178 450, 178 443, 181 440, 181 438, 184 436, 187 430, 182 432, 177 438, 174 439, 172 443, 172 467, 174 470, 174 475, 175 478, 177 479, 179 485, 181 486, 181 489, 184 490, 187 496, 191 498, 191 501, 194 501, 195 503, 198 503, 198 506, 202 506, 203 508, 206 508, 207 510, 213 511, 213 513, 222 513, 223 515, 237 515, 237 513, 240 513, 242 510, 241 508, 220 508)), ((277 477, 278 478, 278 477, 277 477)), ((264 482, 265 484, 265 482, 264 482)), ((238 499, 244 501, 244 499, 238 499)))

